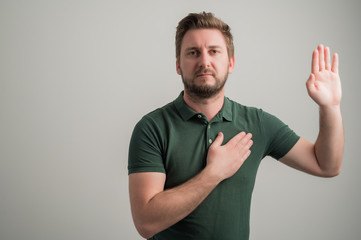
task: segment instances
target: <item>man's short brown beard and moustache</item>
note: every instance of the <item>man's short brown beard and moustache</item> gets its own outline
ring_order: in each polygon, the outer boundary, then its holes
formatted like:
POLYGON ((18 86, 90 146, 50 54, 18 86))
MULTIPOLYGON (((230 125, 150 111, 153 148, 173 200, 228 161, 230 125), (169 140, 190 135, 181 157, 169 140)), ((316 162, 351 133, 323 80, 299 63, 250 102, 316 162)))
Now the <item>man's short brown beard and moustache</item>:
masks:
POLYGON ((187 93, 190 96, 198 99, 208 99, 216 96, 223 89, 228 78, 228 72, 222 77, 217 77, 215 72, 210 69, 200 69, 194 74, 193 78, 185 78, 181 70, 181 77, 182 77, 184 89, 187 91, 187 93), (206 84, 197 85, 195 83, 198 75, 205 73, 212 74, 213 78, 215 79, 215 83, 213 85, 206 85, 206 84))

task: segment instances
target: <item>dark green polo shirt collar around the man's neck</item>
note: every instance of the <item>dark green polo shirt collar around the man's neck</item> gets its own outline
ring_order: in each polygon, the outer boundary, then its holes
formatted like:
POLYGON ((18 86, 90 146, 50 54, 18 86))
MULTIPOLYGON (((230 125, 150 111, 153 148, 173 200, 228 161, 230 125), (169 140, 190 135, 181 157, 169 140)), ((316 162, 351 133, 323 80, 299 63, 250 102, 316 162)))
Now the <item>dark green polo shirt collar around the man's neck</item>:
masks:
MULTIPOLYGON (((198 115, 199 113, 193 111, 184 101, 183 99, 184 92, 182 91, 177 99, 174 100, 174 105, 176 109, 178 110, 179 114, 183 118, 184 121, 188 121, 191 119, 194 115, 198 115)), ((219 111, 219 113, 223 119, 231 122, 232 121, 232 102, 229 98, 224 97, 224 104, 219 111)))

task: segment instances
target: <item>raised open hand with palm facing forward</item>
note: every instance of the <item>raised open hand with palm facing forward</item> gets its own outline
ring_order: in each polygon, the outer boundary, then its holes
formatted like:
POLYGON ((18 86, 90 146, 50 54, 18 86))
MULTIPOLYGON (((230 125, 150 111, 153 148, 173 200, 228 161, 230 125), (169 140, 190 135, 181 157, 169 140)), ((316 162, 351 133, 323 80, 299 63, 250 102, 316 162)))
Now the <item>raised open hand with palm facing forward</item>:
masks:
POLYGON ((320 106, 338 106, 341 102, 341 81, 338 74, 338 55, 322 44, 313 51, 312 73, 306 82, 308 95, 320 106))

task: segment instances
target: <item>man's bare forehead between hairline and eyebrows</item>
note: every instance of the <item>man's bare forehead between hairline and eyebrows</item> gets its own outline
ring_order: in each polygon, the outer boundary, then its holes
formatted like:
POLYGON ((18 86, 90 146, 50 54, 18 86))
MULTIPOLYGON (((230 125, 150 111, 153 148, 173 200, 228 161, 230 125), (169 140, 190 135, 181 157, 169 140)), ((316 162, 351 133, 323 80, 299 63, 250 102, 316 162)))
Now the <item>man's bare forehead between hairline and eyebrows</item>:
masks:
POLYGON ((187 31, 183 37, 181 49, 210 46, 226 48, 226 41, 218 29, 194 29, 187 31))

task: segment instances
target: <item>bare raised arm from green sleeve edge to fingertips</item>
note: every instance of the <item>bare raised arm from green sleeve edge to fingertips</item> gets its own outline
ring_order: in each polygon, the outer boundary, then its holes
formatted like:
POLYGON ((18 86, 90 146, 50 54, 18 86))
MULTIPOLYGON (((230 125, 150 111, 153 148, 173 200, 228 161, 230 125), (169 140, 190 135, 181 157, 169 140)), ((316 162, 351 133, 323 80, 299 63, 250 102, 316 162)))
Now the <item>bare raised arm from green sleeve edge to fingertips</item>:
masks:
POLYGON ((319 105, 320 129, 313 144, 303 138, 280 159, 284 164, 320 176, 333 177, 340 173, 344 149, 344 129, 340 102, 341 82, 338 55, 319 45, 312 55, 312 73, 306 82, 310 97, 319 105))

